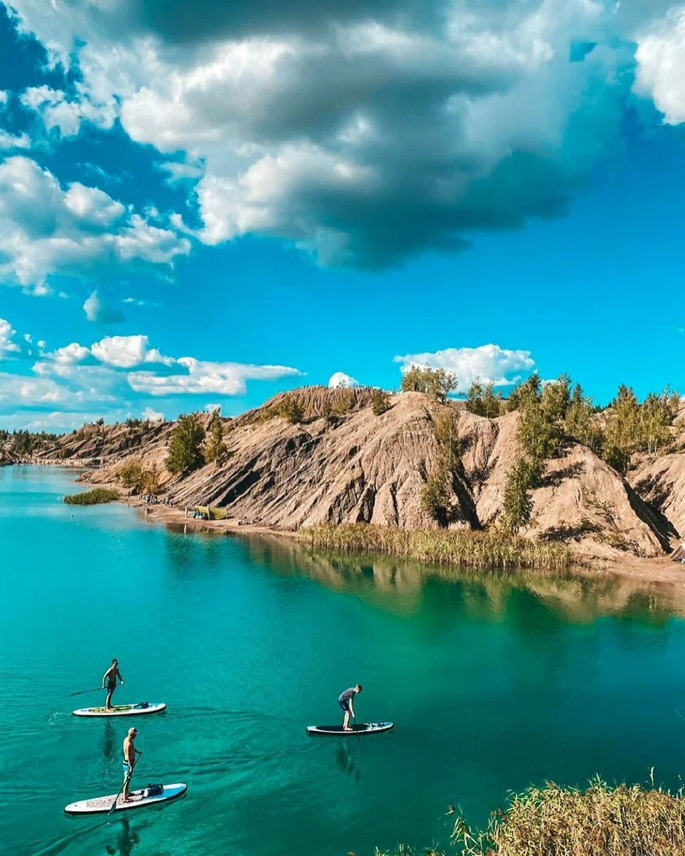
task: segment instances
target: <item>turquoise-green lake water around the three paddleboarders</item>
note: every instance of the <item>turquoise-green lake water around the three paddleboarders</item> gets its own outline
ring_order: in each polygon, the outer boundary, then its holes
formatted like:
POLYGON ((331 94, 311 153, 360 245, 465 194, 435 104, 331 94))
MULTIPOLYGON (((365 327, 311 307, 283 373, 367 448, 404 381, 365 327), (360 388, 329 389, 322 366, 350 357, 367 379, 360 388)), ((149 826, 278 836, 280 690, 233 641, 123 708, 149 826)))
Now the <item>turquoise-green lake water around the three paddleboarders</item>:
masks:
POLYGON ((183 535, 121 505, 63 505, 72 478, 0 469, 0 852, 370 856, 444 840, 450 803, 483 823, 530 782, 645 782, 653 766, 678 786, 676 601, 183 535), (169 705, 135 720, 134 787, 188 795, 64 817, 121 782, 131 720, 70 715, 101 698, 69 693, 97 687, 111 657, 116 701, 169 705), (356 681, 360 719, 396 730, 308 738, 356 681))

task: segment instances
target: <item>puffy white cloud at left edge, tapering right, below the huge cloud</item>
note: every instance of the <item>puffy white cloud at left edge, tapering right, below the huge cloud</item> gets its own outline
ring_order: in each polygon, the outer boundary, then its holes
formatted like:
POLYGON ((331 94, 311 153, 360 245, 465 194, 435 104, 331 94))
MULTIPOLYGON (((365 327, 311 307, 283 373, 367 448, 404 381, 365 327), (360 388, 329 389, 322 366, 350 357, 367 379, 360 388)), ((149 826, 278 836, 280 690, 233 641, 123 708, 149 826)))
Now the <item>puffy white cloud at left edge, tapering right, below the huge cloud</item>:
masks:
POLYGON ((171 265, 188 238, 131 213, 97 187, 63 189, 50 170, 15 155, 0 163, 0 276, 45 292, 53 274, 107 265, 171 265))

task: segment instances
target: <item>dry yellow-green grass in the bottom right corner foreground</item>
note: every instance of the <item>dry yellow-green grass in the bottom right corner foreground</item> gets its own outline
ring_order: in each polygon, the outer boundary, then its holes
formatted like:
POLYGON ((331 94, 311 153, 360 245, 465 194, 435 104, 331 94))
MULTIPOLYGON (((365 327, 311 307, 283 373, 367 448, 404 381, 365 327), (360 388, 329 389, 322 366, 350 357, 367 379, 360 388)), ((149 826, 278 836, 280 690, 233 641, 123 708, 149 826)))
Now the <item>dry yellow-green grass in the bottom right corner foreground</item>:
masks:
MULTIPOLYGON (((585 791, 547 784, 513 795, 485 831, 457 819, 452 844, 450 853, 462 856, 682 856, 685 799, 682 791, 611 788, 599 778, 585 791)), ((392 856, 410 854, 401 847, 392 856)))

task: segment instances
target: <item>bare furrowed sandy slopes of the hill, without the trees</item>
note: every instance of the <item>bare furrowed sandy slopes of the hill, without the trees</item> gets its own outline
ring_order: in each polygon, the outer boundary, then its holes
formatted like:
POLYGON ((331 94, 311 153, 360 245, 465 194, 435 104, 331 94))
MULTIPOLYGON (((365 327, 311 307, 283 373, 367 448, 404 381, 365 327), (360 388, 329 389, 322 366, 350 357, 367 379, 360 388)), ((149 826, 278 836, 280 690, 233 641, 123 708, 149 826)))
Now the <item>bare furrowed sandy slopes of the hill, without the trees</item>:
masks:
MULTIPOLYGON (((164 487, 176 503, 222 506, 232 517, 283 529, 320 521, 437 526, 421 507, 421 490, 438 461, 434 420, 450 407, 462 469, 452 479, 448 525, 497 525, 506 476, 518 454, 516 413, 485 419, 460 403, 440 405, 420 393, 403 393, 376 416, 371 390, 313 387, 297 396, 305 413, 301 424, 276 414, 283 396, 226 420, 230 457, 223 466, 207 465, 185 478, 165 474, 164 487)), ((86 474, 93 483, 116 482, 122 461, 133 457, 146 467, 164 467, 172 423, 86 427, 40 455, 90 458, 99 465, 86 474)), ((685 480, 685 455, 682 465, 685 480)), ((533 493, 529 534, 569 541, 593 556, 663 555, 685 531, 685 502, 680 510, 652 506, 654 490, 644 490, 639 480, 634 484, 639 492, 585 446, 569 442, 548 461, 543 486, 533 493)))

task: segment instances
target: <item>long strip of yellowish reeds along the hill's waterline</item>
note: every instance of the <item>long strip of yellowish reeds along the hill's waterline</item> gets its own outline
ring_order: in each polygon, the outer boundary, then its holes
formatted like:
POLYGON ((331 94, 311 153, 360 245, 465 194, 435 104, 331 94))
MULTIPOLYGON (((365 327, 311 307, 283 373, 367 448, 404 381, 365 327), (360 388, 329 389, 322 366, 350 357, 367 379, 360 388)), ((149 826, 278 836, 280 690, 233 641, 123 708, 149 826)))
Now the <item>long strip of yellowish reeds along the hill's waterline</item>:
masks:
POLYGON ((432 564, 466 568, 545 568, 563 570, 571 561, 565 544, 530 541, 502 532, 470 530, 398 529, 349 523, 321 523, 301 530, 317 550, 388 553, 432 564))

